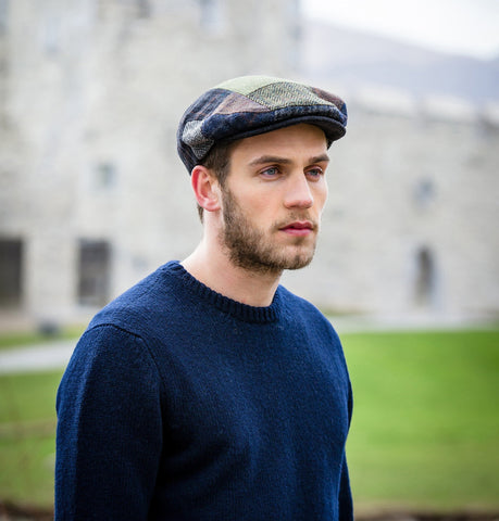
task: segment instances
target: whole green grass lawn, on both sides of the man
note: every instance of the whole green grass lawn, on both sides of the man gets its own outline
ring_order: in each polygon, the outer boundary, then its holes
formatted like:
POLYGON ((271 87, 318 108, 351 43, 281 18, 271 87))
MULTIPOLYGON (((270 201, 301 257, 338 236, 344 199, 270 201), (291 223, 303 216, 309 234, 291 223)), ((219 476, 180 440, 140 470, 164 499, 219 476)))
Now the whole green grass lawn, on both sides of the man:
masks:
MULTIPOLYGON (((499 509, 499 331, 344 334, 358 509, 499 509)), ((0 498, 52 503, 61 371, 0 377, 0 498)))

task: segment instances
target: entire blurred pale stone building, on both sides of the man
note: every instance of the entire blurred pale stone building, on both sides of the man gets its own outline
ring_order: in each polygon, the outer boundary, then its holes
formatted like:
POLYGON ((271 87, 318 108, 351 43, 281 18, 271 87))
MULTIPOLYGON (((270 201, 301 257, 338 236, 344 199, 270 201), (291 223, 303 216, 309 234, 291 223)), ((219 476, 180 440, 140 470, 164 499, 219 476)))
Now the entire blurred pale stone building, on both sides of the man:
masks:
MULTIPOLYGON (((86 319, 187 255, 182 112, 227 77, 299 78, 299 29, 289 0, 0 0, 2 325, 86 319)), ((499 118, 330 88, 349 130, 316 258, 287 285, 338 313, 497 314, 499 118)))

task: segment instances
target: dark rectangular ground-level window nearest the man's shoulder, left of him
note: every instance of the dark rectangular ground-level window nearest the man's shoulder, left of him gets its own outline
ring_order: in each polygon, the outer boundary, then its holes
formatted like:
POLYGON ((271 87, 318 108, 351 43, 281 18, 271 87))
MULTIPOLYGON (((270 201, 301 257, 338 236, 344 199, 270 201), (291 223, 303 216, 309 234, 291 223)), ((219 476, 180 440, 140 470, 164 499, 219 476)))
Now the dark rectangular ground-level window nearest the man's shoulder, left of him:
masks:
POLYGON ((109 302, 111 247, 107 241, 79 243, 78 302, 85 306, 103 306, 109 302))

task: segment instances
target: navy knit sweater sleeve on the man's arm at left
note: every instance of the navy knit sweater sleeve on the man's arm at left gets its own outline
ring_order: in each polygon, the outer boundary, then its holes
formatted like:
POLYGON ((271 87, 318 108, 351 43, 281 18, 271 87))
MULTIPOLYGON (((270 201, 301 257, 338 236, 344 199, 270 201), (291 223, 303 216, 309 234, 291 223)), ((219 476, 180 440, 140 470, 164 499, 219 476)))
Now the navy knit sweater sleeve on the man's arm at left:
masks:
POLYGON ((145 520, 162 449, 160 378, 144 341, 87 331, 58 398, 55 520, 145 520))

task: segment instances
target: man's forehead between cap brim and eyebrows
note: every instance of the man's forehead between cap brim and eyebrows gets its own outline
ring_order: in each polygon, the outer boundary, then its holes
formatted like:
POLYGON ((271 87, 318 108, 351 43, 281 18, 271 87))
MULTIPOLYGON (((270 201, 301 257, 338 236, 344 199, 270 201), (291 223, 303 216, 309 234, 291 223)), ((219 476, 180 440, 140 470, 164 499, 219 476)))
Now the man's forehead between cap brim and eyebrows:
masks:
POLYGON ((232 158, 247 158, 270 153, 286 157, 315 156, 326 151, 327 140, 323 130, 313 125, 299 124, 240 139, 232 150, 232 158))

